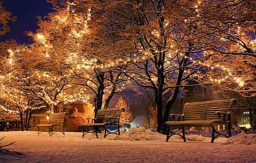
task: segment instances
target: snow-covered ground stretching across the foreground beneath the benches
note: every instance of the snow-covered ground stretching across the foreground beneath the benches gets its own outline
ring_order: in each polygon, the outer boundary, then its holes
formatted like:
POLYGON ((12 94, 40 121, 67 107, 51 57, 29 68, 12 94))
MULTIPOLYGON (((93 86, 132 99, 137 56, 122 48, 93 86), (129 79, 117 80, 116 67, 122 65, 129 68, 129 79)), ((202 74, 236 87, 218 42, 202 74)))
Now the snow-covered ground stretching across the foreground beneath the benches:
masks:
POLYGON ((256 134, 220 137, 187 135, 187 142, 154 133, 145 128, 132 128, 118 136, 103 139, 92 134, 66 132, 49 136, 36 131, 0 132, 0 162, 256 162, 256 134), (22 153, 22 154, 21 154, 22 153))

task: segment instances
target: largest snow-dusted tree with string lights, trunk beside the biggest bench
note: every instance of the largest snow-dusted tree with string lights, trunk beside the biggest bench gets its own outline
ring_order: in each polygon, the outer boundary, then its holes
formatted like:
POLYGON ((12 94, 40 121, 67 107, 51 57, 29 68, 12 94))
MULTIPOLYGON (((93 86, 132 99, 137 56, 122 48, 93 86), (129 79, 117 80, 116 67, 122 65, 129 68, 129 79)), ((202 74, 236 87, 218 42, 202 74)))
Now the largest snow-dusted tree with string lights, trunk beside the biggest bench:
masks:
POLYGON ((254 80, 250 64, 255 65, 255 60, 249 56, 255 49, 240 54, 243 52, 230 46, 234 37, 224 37, 242 24, 245 33, 235 37, 254 44, 255 1, 103 2, 104 11, 112 15, 108 17, 109 26, 121 28, 119 35, 129 35, 127 44, 133 47, 129 59, 132 66, 124 73, 136 84, 154 91, 158 132, 165 132, 170 108, 182 87, 216 84, 242 94, 247 92, 246 82, 254 80), (196 84, 189 85, 188 79, 196 84), (167 93, 170 96, 163 110, 167 93))

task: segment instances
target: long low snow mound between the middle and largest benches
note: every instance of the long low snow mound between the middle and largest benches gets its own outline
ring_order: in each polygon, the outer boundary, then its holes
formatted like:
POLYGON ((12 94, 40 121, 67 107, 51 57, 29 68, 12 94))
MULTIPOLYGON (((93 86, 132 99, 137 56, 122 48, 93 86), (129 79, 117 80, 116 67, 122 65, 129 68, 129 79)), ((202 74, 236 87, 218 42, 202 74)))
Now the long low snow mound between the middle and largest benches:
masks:
POLYGON ((109 140, 165 140, 166 135, 146 130, 145 127, 130 128, 128 131, 122 129, 120 135, 109 135, 109 140))

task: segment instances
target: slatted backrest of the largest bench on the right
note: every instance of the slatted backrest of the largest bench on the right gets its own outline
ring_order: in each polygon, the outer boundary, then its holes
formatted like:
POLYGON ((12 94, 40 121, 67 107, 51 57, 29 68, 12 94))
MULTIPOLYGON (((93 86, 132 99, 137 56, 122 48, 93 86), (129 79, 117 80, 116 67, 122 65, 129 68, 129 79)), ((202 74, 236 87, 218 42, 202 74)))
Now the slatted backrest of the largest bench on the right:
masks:
MULTIPOLYGON (((183 109, 183 121, 210 121, 218 118, 216 111, 231 111, 236 99, 186 103, 183 109)), ((230 118, 230 117, 229 117, 230 118)))

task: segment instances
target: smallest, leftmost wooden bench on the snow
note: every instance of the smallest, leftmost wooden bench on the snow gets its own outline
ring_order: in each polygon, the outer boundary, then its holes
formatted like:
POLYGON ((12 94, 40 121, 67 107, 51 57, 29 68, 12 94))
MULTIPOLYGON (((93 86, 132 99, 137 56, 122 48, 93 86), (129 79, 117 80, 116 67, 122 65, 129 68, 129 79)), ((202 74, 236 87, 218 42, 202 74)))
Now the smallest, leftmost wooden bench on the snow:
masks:
POLYGON ((64 117, 67 115, 67 112, 58 112, 52 113, 49 115, 49 120, 41 120, 41 124, 38 124, 38 135, 42 132, 47 132, 51 136, 56 132, 64 133, 64 117), (58 130, 58 126, 62 126, 61 130, 58 130), (54 129, 54 127, 56 129, 54 129), (42 128, 47 128, 46 130, 42 130, 42 128))

